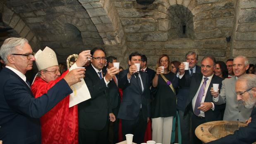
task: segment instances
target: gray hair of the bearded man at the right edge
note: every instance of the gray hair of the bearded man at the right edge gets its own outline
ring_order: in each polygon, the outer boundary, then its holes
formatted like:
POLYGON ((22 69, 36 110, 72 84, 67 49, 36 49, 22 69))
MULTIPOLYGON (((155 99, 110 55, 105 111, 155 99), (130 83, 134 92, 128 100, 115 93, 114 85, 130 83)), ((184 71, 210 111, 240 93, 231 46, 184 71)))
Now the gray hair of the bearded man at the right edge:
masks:
POLYGON ((244 74, 239 76, 238 81, 244 81, 246 83, 246 88, 250 89, 252 87, 256 87, 256 75, 254 74, 244 74))

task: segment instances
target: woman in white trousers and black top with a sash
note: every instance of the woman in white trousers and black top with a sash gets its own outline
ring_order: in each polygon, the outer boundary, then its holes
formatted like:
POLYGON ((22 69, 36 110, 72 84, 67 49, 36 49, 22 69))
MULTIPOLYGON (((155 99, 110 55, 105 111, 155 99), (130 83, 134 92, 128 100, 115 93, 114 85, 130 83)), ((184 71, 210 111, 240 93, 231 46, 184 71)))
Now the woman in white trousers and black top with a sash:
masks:
POLYGON ((152 140, 162 144, 170 144, 172 120, 173 116, 176 116, 177 79, 171 70, 170 58, 166 54, 161 55, 156 64, 156 75, 152 84, 154 98, 151 105, 151 118, 152 140))

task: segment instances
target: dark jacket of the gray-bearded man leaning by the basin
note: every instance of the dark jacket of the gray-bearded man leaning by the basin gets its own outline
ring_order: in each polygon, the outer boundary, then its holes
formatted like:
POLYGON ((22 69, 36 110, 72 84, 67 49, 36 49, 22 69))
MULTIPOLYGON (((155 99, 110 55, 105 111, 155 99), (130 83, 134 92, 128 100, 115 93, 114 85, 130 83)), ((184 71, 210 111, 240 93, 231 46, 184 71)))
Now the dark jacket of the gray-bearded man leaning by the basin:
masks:
POLYGON ((251 123, 246 127, 240 127, 234 132, 234 135, 209 142, 207 144, 251 144, 256 142, 256 108, 251 112, 251 123))

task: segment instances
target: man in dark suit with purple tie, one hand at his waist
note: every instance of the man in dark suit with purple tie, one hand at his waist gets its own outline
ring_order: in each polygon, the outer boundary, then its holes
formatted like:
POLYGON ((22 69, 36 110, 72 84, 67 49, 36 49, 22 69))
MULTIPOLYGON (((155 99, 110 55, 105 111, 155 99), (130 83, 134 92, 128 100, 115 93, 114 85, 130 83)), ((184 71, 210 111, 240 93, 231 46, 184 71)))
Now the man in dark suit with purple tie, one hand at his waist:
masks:
MULTIPOLYGON (((183 68, 180 66, 180 68, 183 68)), ((221 112, 218 105, 213 104, 213 96, 211 95, 211 87, 213 83, 219 84, 223 78, 214 75, 215 58, 211 56, 204 57, 201 61, 201 73, 195 74, 191 80, 189 88, 189 99, 186 102, 184 115, 192 111, 192 137, 193 144, 201 144, 202 142, 196 137, 195 129, 202 123, 221 120, 221 112)))

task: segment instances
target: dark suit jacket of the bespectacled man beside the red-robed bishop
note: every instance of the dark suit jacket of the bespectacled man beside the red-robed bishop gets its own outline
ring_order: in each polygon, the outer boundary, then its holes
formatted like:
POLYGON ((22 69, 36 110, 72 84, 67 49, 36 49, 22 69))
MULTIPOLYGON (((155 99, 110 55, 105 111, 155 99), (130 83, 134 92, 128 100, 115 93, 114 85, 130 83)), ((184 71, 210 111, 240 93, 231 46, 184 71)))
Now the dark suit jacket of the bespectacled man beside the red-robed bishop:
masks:
MULTIPOLYGON (((103 76, 105 76, 105 68, 103 76)), ((109 109, 104 78, 100 80, 92 65, 86 67, 84 81, 91 94, 91 99, 78 104, 79 128, 102 130, 107 124, 109 109)))

